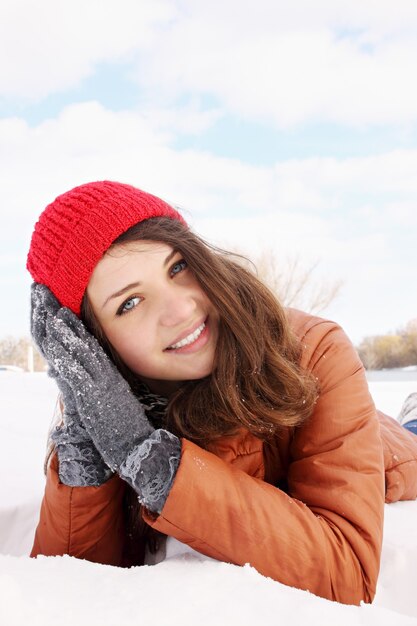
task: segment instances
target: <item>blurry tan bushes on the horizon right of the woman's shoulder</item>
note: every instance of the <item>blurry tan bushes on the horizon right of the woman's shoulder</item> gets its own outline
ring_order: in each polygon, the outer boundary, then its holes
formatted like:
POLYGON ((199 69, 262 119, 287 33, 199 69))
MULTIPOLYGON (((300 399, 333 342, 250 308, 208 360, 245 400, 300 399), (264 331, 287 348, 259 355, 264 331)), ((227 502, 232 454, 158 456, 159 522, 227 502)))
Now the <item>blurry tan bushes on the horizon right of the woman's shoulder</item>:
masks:
POLYGON ((417 319, 395 333, 365 337, 357 350, 366 369, 417 365, 417 319))

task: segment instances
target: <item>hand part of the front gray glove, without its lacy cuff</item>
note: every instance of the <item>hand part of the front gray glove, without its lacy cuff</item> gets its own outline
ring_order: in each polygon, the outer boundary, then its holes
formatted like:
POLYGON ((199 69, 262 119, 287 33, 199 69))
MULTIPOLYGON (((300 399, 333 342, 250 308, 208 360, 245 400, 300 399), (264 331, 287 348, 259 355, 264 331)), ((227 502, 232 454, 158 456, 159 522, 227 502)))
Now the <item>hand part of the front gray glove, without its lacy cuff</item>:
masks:
POLYGON ((114 470, 154 428, 127 381, 72 311, 60 309, 46 321, 45 353, 72 390, 77 412, 114 470))

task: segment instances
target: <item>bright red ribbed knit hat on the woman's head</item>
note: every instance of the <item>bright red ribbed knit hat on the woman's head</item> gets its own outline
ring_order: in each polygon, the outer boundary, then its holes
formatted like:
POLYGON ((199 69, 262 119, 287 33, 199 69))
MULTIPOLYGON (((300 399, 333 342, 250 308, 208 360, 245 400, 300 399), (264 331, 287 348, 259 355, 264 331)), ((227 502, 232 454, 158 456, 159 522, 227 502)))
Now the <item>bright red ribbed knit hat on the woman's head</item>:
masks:
POLYGON ((185 224, 172 206, 130 185, 105 180, 75 187, 49 204, 35 224, 27 269, 62 306, 79 315, 104 252, 128 228, 150 217, 185 224))

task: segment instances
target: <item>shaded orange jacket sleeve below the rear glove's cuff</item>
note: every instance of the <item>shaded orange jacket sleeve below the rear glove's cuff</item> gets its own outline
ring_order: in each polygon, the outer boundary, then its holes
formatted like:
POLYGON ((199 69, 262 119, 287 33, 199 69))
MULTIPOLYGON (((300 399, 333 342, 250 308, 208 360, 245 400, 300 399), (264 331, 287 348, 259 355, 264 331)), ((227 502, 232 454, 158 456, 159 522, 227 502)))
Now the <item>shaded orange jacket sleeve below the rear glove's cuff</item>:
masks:
POLYGON ((112 477, 100 487, 68 487, 52 456, 31 556, 69 554, 95 563, 123 564, 124 483, 112 477))

